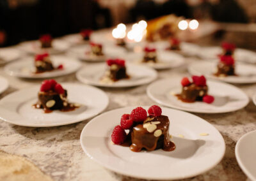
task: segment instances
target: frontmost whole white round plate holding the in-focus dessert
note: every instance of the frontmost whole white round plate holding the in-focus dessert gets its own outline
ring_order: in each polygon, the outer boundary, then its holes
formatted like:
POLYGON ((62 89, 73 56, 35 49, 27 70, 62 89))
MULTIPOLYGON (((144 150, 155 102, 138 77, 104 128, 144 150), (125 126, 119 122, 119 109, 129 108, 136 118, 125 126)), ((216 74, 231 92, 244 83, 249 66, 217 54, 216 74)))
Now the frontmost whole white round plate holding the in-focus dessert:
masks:
POLYGON ((129 177, 174 180, 195 177, 211 170, 224 156, 225 142, 215 127, 200 117, 171 108, 162 108, 162 115, 170 120, 169 132, 176 145, 172 152, 161 149, 132 152, 129 147, 113 145, 113 128, 120 124, 120 117, 131 110, 131 107, 111 110, 86 124, 80 142, 88 157, 129 177), (208 136, 200 136, 201 133, 208 136))

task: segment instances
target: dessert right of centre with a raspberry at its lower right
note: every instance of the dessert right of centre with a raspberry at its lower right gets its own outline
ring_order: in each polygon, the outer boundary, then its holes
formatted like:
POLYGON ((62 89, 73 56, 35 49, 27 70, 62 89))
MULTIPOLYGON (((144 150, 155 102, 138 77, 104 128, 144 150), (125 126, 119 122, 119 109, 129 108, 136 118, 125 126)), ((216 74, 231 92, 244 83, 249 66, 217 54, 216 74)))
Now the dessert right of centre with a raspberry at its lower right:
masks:
POLYGON ((188 77, 184 77, 181 80, 182 91, 181 94, 176 94, 180 101, 185 103, 194 103, 195 101, 204 101, 205 103, 212 103, 214 101, 213 96, 209 96, 208 86, 206 84, 205 77, 192 76, 192 81, 188 77))

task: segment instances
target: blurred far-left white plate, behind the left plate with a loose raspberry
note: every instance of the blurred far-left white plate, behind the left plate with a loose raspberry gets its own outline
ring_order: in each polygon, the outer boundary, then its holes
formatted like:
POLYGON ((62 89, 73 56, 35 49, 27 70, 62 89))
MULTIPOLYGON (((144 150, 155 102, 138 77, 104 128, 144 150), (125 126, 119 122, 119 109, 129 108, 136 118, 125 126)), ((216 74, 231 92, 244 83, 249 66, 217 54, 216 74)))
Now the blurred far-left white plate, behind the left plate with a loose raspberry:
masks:
POLYGON ((52 40, 52 47, 51 48, 41 48, 40 41, 26 41, 24 43, 20 43, 19 48, 29 54, 42 54, 42 53, 49 53, 49 54, 59 54, 64 52, 70 47, 70 44, 67 41, 63 40, 52 40))

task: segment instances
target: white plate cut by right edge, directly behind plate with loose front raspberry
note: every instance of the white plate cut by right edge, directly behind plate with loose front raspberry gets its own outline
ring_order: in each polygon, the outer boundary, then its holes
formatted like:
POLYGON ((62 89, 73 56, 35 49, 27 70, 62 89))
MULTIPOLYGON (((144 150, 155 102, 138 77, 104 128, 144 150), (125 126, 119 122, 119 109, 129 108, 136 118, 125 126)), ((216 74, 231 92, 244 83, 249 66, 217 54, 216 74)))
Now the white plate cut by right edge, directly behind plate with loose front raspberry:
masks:
POLYGON ((215 76, 218 61, 200 62, 188 66, 188 71, 191 75, 204 75, 207 78, 220 80, 228 83, 255 83, 256 82, 256 67, 248 64, 236 63, 237 76, 215 76))

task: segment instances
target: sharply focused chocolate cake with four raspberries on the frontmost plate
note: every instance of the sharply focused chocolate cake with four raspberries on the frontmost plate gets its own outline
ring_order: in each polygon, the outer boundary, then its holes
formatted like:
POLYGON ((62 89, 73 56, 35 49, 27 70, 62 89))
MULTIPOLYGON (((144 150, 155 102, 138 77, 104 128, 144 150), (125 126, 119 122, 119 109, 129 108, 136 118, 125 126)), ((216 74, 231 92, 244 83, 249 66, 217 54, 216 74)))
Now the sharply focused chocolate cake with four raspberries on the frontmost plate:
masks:
POLYGON ((127 145, 133 152, 148 151, 162 148, 172 151, 175 144, 170 141, 170 120, 162 115, 159 106, 151 106, 147 111, 141 107, 135 108, 130 114, 121 117, 120 126, 116 126, 111 134, 111 140, 116 145, 127 145), (129 131, 127 134, 125 129, 129 131))

